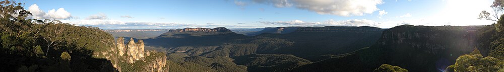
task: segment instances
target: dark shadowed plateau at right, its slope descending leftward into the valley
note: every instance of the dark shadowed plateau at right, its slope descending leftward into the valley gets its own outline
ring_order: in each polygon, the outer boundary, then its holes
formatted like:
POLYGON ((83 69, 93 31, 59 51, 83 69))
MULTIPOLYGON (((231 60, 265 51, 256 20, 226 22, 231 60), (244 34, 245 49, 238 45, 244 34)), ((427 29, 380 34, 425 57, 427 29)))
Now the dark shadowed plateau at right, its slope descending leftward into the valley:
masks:
POLYGON ((410 71, 439 71, 478 46, 478 33, 484 27, 400 25, 385 30, 369 48, 303 65, 295 71, 355 71, 357 67, 372 71, 383 63, 410 71))

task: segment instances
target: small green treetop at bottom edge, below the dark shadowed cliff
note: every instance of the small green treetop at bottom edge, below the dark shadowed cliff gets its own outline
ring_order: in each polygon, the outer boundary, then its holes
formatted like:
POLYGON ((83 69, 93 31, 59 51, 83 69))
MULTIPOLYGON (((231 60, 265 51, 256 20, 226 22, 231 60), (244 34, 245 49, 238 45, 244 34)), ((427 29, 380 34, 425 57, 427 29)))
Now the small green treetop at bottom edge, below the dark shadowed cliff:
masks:
POLYGON ((373 70, 373 72, 408 72, 407 69, 399 66, 392 66, 390 64, 382 64, 380 67, 373 70))

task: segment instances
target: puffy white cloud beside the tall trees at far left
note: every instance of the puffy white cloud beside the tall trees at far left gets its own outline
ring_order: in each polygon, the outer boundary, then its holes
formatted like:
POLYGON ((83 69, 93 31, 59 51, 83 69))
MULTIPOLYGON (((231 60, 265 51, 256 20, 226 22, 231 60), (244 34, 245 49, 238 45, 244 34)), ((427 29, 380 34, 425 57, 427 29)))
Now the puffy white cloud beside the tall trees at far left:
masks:
POLYGON ((39 8, 37 4, 32 4, 28 7, 28 11, 33 14, 33 18, 35 19, 70 19, 72 15, 70 12, 65 10, 65 8, 51 9, 47 12, 44 12, 39 8))

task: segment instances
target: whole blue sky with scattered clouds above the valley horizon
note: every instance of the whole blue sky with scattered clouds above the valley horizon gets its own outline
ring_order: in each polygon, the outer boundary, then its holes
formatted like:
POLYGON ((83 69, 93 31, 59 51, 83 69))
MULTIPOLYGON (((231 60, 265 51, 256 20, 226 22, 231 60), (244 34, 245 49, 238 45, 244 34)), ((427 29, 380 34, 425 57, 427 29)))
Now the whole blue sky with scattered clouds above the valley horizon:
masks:
POLYGON ((493 0, 16 0, 35 19, 102 29, 487 25, 493 0))

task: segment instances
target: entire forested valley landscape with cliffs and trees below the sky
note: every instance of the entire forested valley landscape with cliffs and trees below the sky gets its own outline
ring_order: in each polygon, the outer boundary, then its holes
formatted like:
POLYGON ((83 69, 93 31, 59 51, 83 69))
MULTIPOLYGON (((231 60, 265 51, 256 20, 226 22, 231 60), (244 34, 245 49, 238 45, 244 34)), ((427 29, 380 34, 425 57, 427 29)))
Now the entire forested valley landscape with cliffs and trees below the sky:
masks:
POLYGON ((106 32, 32 19, 21 5, 0 1, 0 71, 504 71, 502 18, 470 26, 106 32))

